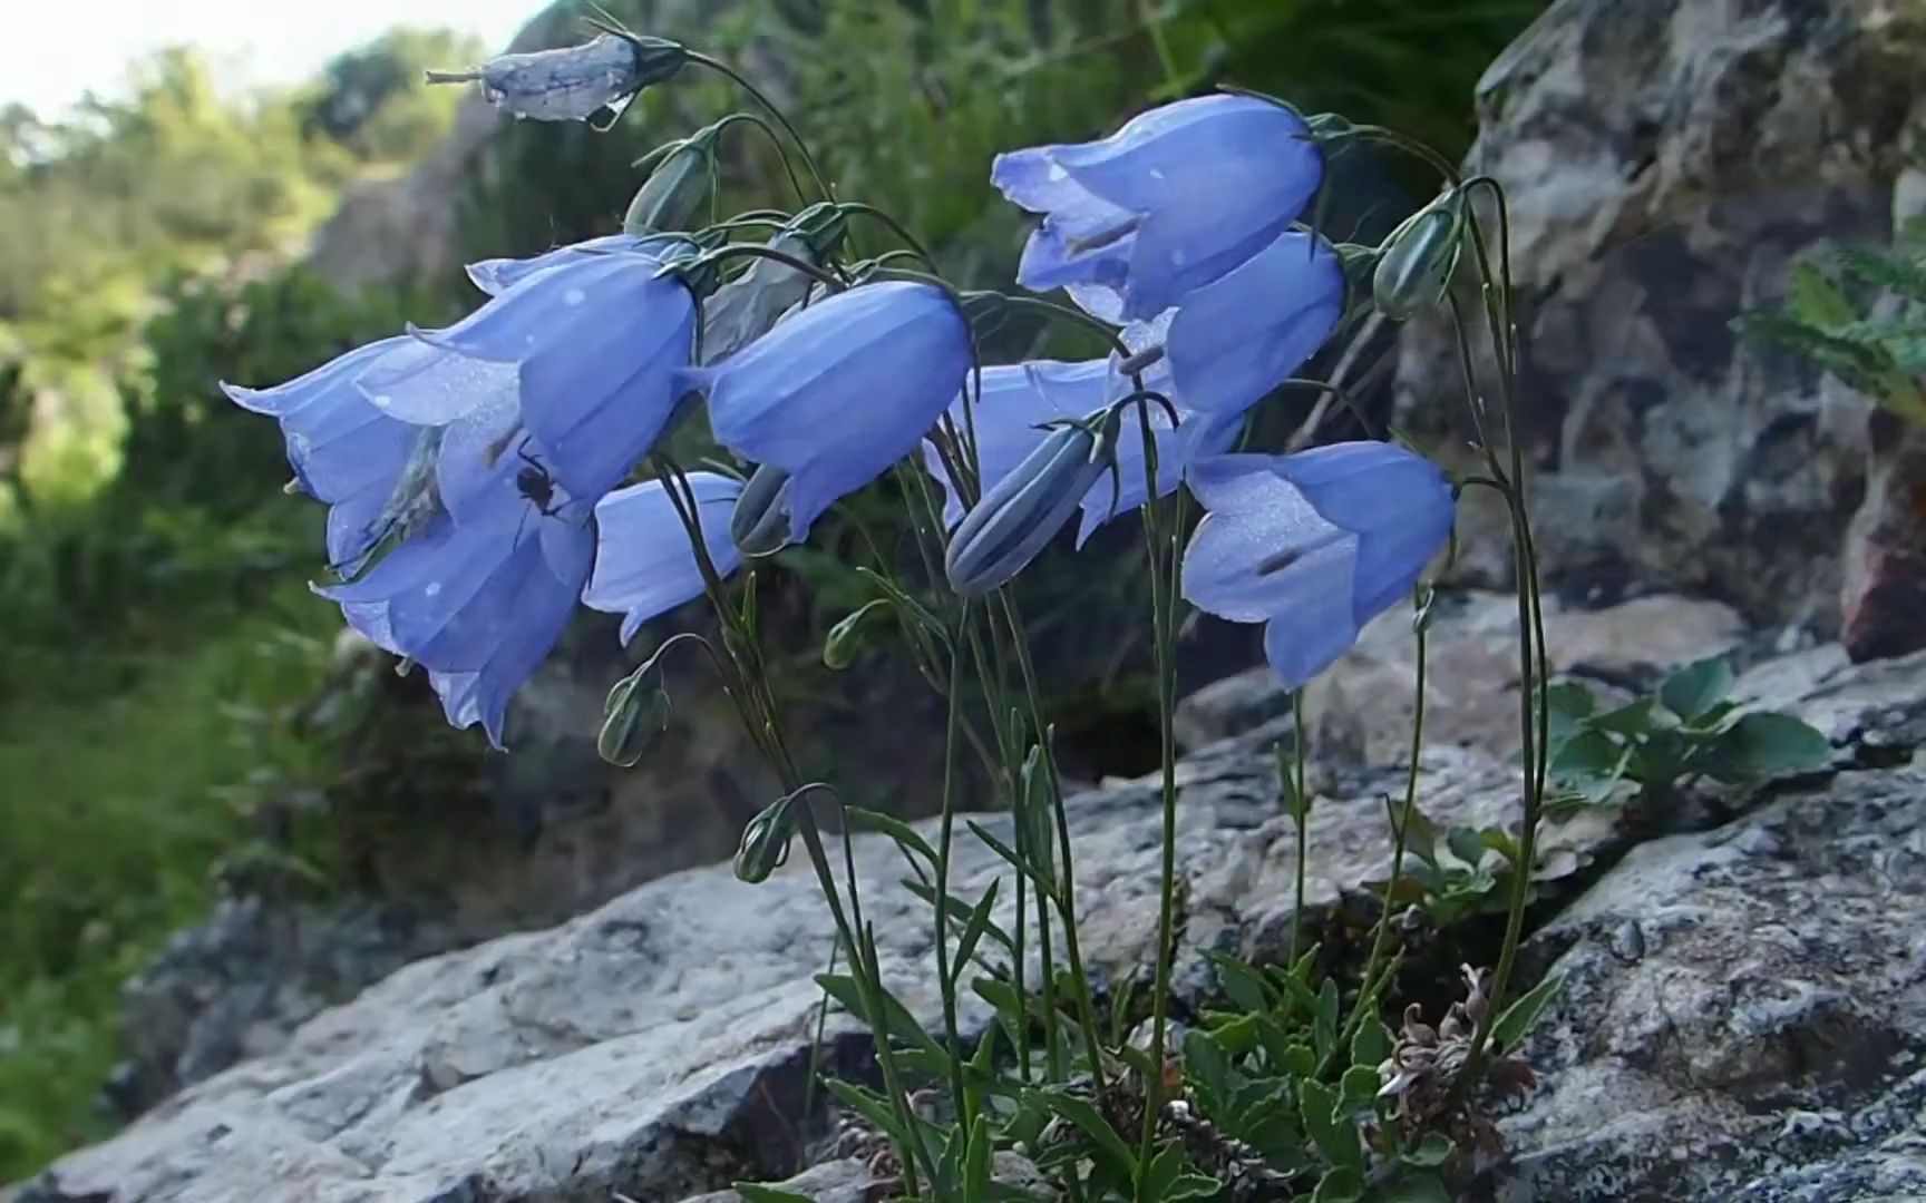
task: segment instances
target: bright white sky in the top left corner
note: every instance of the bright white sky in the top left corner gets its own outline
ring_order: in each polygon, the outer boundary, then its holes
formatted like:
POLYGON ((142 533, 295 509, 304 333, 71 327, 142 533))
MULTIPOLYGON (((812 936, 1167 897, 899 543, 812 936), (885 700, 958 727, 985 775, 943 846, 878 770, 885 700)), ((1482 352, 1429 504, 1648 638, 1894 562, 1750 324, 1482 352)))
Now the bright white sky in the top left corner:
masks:
POLYGON ((116 92, 127 64, 191 42, 237 85, 287 83, 391 25, 445 25, 503 46, 543 0, 77 0, 8 4, 0 104, 42 115, 89 89, 116 92))

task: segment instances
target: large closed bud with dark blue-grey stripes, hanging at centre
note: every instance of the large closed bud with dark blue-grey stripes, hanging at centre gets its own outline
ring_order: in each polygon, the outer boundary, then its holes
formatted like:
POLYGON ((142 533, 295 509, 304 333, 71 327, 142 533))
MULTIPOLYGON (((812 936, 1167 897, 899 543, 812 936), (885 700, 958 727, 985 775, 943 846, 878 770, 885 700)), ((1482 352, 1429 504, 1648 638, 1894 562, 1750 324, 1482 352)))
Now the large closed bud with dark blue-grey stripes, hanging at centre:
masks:
POLYGON ((944 558, 950 587, 975 597, 1023 572, 1111 466, 1115 439, 1115 412, 1050 431, 963 516, 944 558))

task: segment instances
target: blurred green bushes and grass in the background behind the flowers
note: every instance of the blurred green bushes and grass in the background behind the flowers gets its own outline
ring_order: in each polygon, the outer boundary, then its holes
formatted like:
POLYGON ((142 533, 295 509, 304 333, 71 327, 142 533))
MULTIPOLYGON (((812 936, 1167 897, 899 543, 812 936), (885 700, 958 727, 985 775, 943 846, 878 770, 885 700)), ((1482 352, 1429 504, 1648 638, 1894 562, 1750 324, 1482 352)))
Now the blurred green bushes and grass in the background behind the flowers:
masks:
MULTIPOLYGON (((1025 231, 988 187, 998 150, 1238 83, 1458 154, 1473 81, 1541 4, 780 0, 682 6, 690 27, 651 23, 649 0, 609 8, 738 62, 842 194, 898 214, 961 283, 990 283, 1025 231)), ((576 38, 578 15, 549 10, 532 44, 576 38)), ((273 425, 216 381, 287 379, 466 304, 447 279, 343 296, 297 260, 343 187, 404 169, 447 129, 464 90, 418 87, 420 69, 478 52, 397 31, 300 89, 235 100, 173 50, 71 117, 0 112, 0 1182, 100 1132, 91 1099, 116 1057, 117 984, 204 910, 212 866, 247 857, 252 801, 302 781, 358 787, 341 745, 285 722, 327 676, 337 626, 304 587, 318 508, 279 495, 273 425)), ((632 160, 743 106, 690 71, 609 135, 505 123, 449 196, 458 254, 614 229, 639 183, 632 160)), ((767 144, 734 142, 732 202, 790 204, 780 179, 767 144)), ((867 225, 859 237, 886 243, 867 225)), ((890 485, 855 502, 886 554, 909 554, 901 508, 890 485)), ((853 525, 824 529, 822 545, 853 556, 857 543, 853 525)), ((786 556, 809 587, 770 591, 813 672, 822 631, 865 597, 851 556, 786 556)), ((1084 616, 1127 604, 1129 572, 1065 558, 1036 581, 1042 637, 1125 676, 1136 653, 1115 633, 1140 624, 1084 616)), ((1084 683, 1057 704, 1140 693, 1084 683)), ((379 762, 408 772, 406 755, 379 762)))

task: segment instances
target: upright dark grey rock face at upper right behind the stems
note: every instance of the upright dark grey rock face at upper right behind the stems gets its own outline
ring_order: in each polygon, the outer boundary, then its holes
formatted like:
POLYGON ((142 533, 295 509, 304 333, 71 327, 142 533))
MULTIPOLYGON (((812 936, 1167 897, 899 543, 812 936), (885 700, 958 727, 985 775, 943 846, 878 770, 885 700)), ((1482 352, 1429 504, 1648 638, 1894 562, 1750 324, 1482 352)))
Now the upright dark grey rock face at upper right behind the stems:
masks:
MULTIPOLYGON (((1837 633, 1870 402, 1730 321, 1776 304, 1799 256, 1891 239, 1922 67, 1911 0, 1558 0, 1491 65, 1468 167, 1510 192, 1554 581, 1837 633)), ((1464 447, 1458 379, 1444 321, 1412 327, 1404 427, 1464 447)), ((1504 525, 1468 502, 1468 579, 1502 581, 1504 525)))

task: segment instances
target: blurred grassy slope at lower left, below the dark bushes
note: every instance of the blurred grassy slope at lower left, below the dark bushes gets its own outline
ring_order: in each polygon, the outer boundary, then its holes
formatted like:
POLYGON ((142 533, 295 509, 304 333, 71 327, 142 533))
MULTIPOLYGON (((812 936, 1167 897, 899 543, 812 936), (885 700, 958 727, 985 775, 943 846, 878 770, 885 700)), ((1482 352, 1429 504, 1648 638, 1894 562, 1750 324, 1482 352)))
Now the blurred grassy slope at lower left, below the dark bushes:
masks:
POLYGON ((198 920, 248 803, 312 780, 279 718, 322 681, 337 618, 299 579, 114 697, 0 716, 0 1182, 104 1134, 119 989, 198 920))

